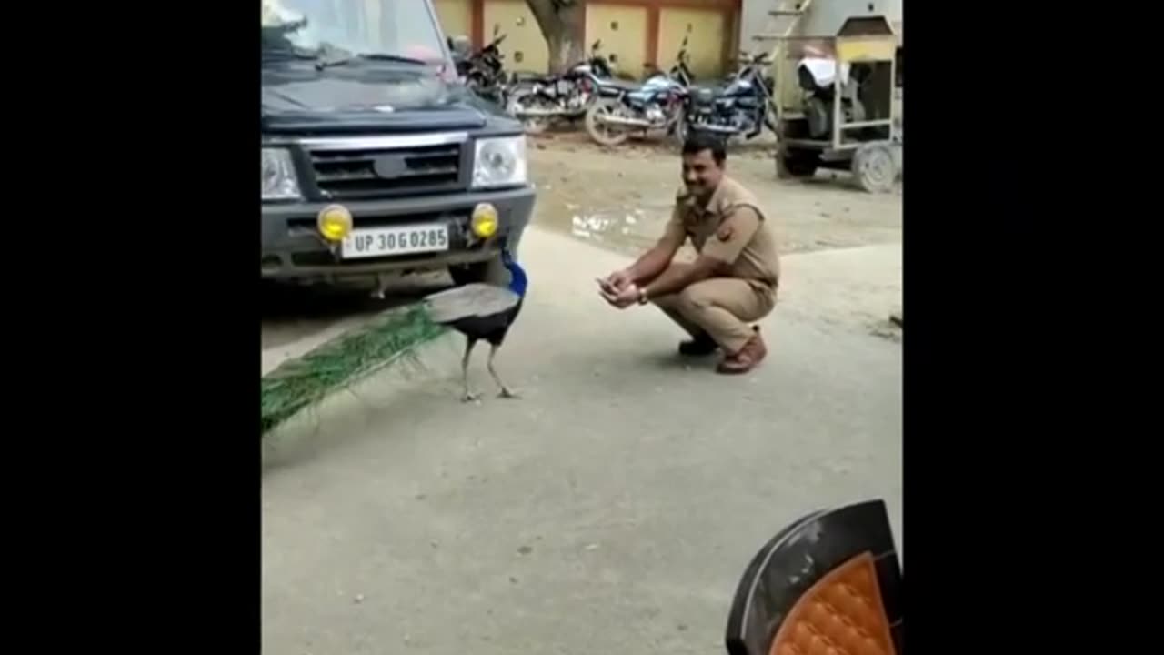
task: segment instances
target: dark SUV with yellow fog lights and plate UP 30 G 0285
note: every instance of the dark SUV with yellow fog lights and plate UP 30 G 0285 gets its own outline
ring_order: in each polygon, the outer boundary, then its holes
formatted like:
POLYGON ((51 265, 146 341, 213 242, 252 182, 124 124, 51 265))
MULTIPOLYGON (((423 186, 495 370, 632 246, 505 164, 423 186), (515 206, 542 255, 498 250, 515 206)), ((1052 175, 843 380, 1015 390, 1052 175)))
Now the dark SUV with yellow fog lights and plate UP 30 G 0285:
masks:
POLYGON ((480 280, 533 211, 521 126, 457 82, 431 0, 262 0, 262 276, 480 280))

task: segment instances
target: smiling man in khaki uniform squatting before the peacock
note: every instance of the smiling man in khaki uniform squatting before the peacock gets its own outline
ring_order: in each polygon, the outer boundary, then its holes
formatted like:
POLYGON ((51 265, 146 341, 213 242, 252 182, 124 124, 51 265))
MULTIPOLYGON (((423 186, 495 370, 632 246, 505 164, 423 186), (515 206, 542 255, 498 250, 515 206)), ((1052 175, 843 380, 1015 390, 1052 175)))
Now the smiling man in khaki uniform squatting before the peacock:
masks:
POLYGON ((724 160, 714 136, 683 143, 683 188, 662 237, 629 268, 598 280, 598 293, 618 309, 653 303, 691 336, 681 354, 718 348, 719 373, 746 373, 767 354, 752 323, 775 307, 780 256, 755 196, 724 175, 724 160), (697 259, 673 261, 687 239, 697 259))

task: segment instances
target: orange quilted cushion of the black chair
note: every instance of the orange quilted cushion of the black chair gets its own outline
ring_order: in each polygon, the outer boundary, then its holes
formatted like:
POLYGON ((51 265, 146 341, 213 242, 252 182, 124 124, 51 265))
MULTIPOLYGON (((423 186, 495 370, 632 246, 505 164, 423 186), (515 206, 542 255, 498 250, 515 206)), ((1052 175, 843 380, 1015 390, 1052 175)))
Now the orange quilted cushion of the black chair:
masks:
POLYGON ((894 655, 873 556, 853 557, 804 592, 768 655, 894 655))

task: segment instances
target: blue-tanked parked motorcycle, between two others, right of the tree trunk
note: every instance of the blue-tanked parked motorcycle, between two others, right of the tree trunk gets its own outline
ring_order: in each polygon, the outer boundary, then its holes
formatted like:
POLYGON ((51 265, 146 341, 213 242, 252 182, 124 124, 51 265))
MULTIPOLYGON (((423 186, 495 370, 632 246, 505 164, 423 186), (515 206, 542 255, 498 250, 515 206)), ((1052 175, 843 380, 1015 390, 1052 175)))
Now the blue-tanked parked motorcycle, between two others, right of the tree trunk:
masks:
POLYGON ((682 122, 687 89, 691 84, 688 59, 684 36, 675 65, 667 73, 658 72, 641 85, 602 89, 601 99, 585 114, 590 139, 602 146, 619 146, 637 132, 644 136, 652 131, 674 134, 682 122))

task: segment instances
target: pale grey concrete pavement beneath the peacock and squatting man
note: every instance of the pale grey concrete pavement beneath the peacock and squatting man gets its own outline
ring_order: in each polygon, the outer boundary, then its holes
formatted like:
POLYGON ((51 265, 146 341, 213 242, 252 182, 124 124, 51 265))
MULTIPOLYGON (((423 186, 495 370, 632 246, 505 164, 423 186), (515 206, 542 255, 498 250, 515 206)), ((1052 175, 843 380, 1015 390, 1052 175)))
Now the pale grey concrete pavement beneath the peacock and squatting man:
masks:
POLYGON ((901 533, 900 247, 786 258, 771 354, 680 361, 610 252, 534 230, 532 287, 480 404, 456 337, 275 435, 263 473, 269 655, 723 653, 739 575, 812 509, 881 496, 901 533), (847 298, 847 300, 846 300, 847 298))

